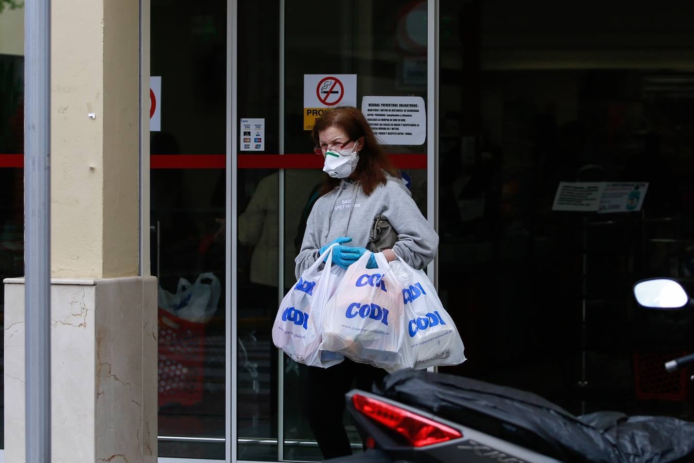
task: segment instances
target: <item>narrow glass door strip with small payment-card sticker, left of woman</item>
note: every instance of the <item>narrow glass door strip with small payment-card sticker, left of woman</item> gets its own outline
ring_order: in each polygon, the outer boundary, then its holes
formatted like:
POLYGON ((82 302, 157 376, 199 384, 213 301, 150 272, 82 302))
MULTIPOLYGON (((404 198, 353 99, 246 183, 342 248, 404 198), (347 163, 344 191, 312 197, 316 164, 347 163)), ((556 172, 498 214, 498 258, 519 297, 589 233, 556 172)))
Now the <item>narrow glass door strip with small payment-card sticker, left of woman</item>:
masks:
MULTIPOLYGON (((237 220, 233 367, 238 460, 275 461, 278 441, 277 349, 272 323, 280 265, 279 10, 276 1, 238 1, 232 190, 237 220)), ((233 403, 233 402, 232 402, 233 403)), ((233 442, 232 442, 233 445, 233 442)))

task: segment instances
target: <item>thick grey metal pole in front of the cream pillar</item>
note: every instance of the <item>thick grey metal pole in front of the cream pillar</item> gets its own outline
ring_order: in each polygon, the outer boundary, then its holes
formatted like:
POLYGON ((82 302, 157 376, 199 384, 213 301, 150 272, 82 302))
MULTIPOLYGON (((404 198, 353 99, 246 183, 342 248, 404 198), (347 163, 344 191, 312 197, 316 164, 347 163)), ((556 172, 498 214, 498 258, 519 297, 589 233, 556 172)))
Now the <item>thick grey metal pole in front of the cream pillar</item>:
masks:
POLYGON ((51 3, 24 11, 26 461, 51 461, 51 3))

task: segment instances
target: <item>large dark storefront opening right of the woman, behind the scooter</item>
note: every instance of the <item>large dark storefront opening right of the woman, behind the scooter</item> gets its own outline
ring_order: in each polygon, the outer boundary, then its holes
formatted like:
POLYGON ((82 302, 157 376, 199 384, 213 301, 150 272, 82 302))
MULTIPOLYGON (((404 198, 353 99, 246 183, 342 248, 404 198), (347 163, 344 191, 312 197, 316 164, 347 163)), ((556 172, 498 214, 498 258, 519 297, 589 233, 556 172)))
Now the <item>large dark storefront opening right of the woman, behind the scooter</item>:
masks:
POLYGON ((641 278, 691 278, 686 11, 441 3, 439 293, 470 359, 443 371, 577 414, 688 413, 659 359, 691 351, 691 315, 632 296, 641 278), (648 190, 632 210, 559 211, 560 181, 648 190))

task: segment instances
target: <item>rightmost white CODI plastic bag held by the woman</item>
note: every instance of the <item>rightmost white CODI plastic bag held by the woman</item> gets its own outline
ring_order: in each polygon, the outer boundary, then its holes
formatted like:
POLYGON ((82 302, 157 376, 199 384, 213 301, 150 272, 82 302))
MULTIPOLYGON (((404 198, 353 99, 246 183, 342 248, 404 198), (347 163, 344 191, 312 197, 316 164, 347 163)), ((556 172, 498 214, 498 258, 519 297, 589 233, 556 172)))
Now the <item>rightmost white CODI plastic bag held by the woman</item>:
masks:
POLYGON ((401 364, 387 369, 420 369, 464 362, 462 339, 426 273, 409 267, 399 257, 390 265, 393 275, 403 285, 407 334, 400 350, 401 364))

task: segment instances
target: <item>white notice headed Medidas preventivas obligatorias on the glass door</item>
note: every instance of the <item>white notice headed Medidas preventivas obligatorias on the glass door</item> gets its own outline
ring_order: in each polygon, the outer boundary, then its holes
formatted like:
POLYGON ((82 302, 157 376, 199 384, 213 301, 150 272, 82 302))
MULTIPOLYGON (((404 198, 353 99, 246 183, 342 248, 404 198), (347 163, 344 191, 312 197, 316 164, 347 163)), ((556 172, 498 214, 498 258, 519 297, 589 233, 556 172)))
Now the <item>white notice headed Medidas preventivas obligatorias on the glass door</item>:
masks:
POLYGON ((421 96, 364 96, 362 112, 382 144, 423 144, 427 113, 421 96))

